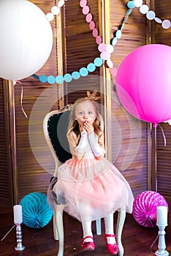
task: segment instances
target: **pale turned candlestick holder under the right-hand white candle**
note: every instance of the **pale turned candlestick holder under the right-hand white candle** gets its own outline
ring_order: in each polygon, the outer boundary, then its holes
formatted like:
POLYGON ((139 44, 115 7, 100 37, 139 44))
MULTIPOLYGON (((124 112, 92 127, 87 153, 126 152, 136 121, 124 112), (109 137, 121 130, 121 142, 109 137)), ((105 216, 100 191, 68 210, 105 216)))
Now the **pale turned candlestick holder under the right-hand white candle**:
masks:
POLYGON ((167 252, 165 249, 166 249, 166 244, 165 244, 165 238, 164 238, 164 235, 165 235, 165 227, 167 225, 159 225, 157 224, 157 226, 159 227, 159 244, 158 244, 158 250, 155 252, 155 255, 157 256, 167 256, 167 255, 170 255, 169 252, 167 252))

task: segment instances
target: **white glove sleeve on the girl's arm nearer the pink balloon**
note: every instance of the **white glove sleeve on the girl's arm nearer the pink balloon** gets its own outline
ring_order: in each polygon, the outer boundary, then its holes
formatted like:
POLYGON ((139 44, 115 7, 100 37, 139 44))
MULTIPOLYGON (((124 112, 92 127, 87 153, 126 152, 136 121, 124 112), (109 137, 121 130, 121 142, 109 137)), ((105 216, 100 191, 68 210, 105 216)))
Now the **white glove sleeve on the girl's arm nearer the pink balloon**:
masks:
POLYGON ((95 157, 100 157, 104 154, 104 149, 99 146, 98 137, 94 134, 94 132, 91 132, 91 134, 88 135, 88 141, 95 157))

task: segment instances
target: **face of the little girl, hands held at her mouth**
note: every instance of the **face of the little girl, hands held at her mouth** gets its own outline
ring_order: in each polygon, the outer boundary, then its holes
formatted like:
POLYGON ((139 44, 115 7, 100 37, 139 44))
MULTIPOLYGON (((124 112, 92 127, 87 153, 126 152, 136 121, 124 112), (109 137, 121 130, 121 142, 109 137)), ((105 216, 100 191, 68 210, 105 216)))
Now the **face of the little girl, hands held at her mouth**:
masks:
POLYGON ((83 125, 85 121, 93 124, 96 119, 96 110, 91 102, 80 102, 75 107, 75 119, 78 124, 83 125))

